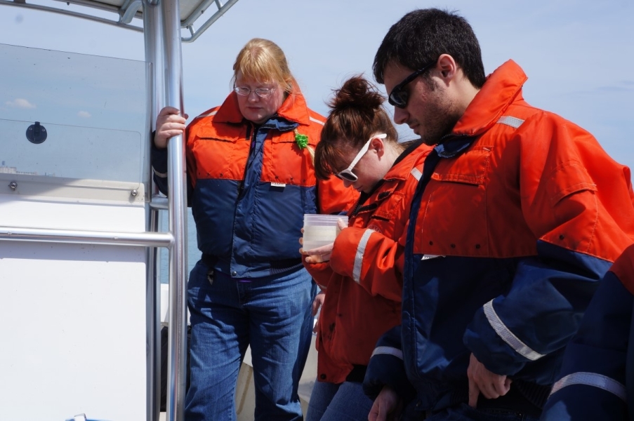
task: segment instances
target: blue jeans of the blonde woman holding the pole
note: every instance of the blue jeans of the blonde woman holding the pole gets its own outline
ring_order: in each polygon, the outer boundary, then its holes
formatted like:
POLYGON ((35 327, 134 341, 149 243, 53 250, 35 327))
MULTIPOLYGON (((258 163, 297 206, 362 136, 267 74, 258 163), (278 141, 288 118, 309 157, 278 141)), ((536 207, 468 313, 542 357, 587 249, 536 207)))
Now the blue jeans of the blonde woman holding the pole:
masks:
POLYGON ((305 269, 232 279, 198 262, 187 283, 191 384, 187 421, 236 419, 236 382, 251 345, 255 420, 302 420, 297 387, 312 335, 317 286, 305 269))

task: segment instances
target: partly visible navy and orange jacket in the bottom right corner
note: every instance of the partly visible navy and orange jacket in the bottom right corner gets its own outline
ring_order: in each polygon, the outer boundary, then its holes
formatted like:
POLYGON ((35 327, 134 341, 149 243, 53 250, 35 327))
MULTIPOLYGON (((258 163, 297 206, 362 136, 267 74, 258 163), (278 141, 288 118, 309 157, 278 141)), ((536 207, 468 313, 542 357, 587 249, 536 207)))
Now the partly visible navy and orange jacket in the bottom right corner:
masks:
POLYGON ((543 421, 634 420, 634 246, 605 275, 566 347, 543 421))

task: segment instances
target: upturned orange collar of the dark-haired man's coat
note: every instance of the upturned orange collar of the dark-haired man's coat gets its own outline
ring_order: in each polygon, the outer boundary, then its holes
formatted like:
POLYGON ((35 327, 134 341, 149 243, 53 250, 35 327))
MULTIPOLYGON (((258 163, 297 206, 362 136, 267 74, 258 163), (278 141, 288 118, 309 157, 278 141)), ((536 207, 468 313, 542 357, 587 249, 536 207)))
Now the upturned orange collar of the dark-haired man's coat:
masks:
POLYGON ((474 136, 487 131, 514 100, 522 99, 522 85, 527 79, 516 62, 503 63, 487 77, 451 134, 474 136))

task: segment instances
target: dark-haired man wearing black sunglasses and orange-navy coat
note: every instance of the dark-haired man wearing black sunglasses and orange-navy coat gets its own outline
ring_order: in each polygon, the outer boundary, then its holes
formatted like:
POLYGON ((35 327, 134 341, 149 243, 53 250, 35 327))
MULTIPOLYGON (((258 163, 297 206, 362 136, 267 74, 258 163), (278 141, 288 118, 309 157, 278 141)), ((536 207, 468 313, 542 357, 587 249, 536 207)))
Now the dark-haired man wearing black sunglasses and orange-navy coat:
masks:
POLYGON ((629 170, 485 76, 468 22, 412 11, 374 58, 394 119, 435 149, 405 241, 402 326, 377 344, 369 420, 537 420, 598 281, 634 239, 629 170))

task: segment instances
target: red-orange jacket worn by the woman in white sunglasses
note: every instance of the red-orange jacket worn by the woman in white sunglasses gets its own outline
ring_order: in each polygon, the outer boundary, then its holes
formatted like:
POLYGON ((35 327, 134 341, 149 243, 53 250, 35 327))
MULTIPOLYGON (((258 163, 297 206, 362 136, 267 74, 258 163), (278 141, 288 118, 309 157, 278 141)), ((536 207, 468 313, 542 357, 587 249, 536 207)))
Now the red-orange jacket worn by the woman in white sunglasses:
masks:
POLYGON ((354 365, 366 366, 378 338, 400 323, 405 227, 430 150, 411 145, 363 202, 362 196, 330 262, 304 262, 326 292, 317 333, 320 381, 341 383, 354 365))

